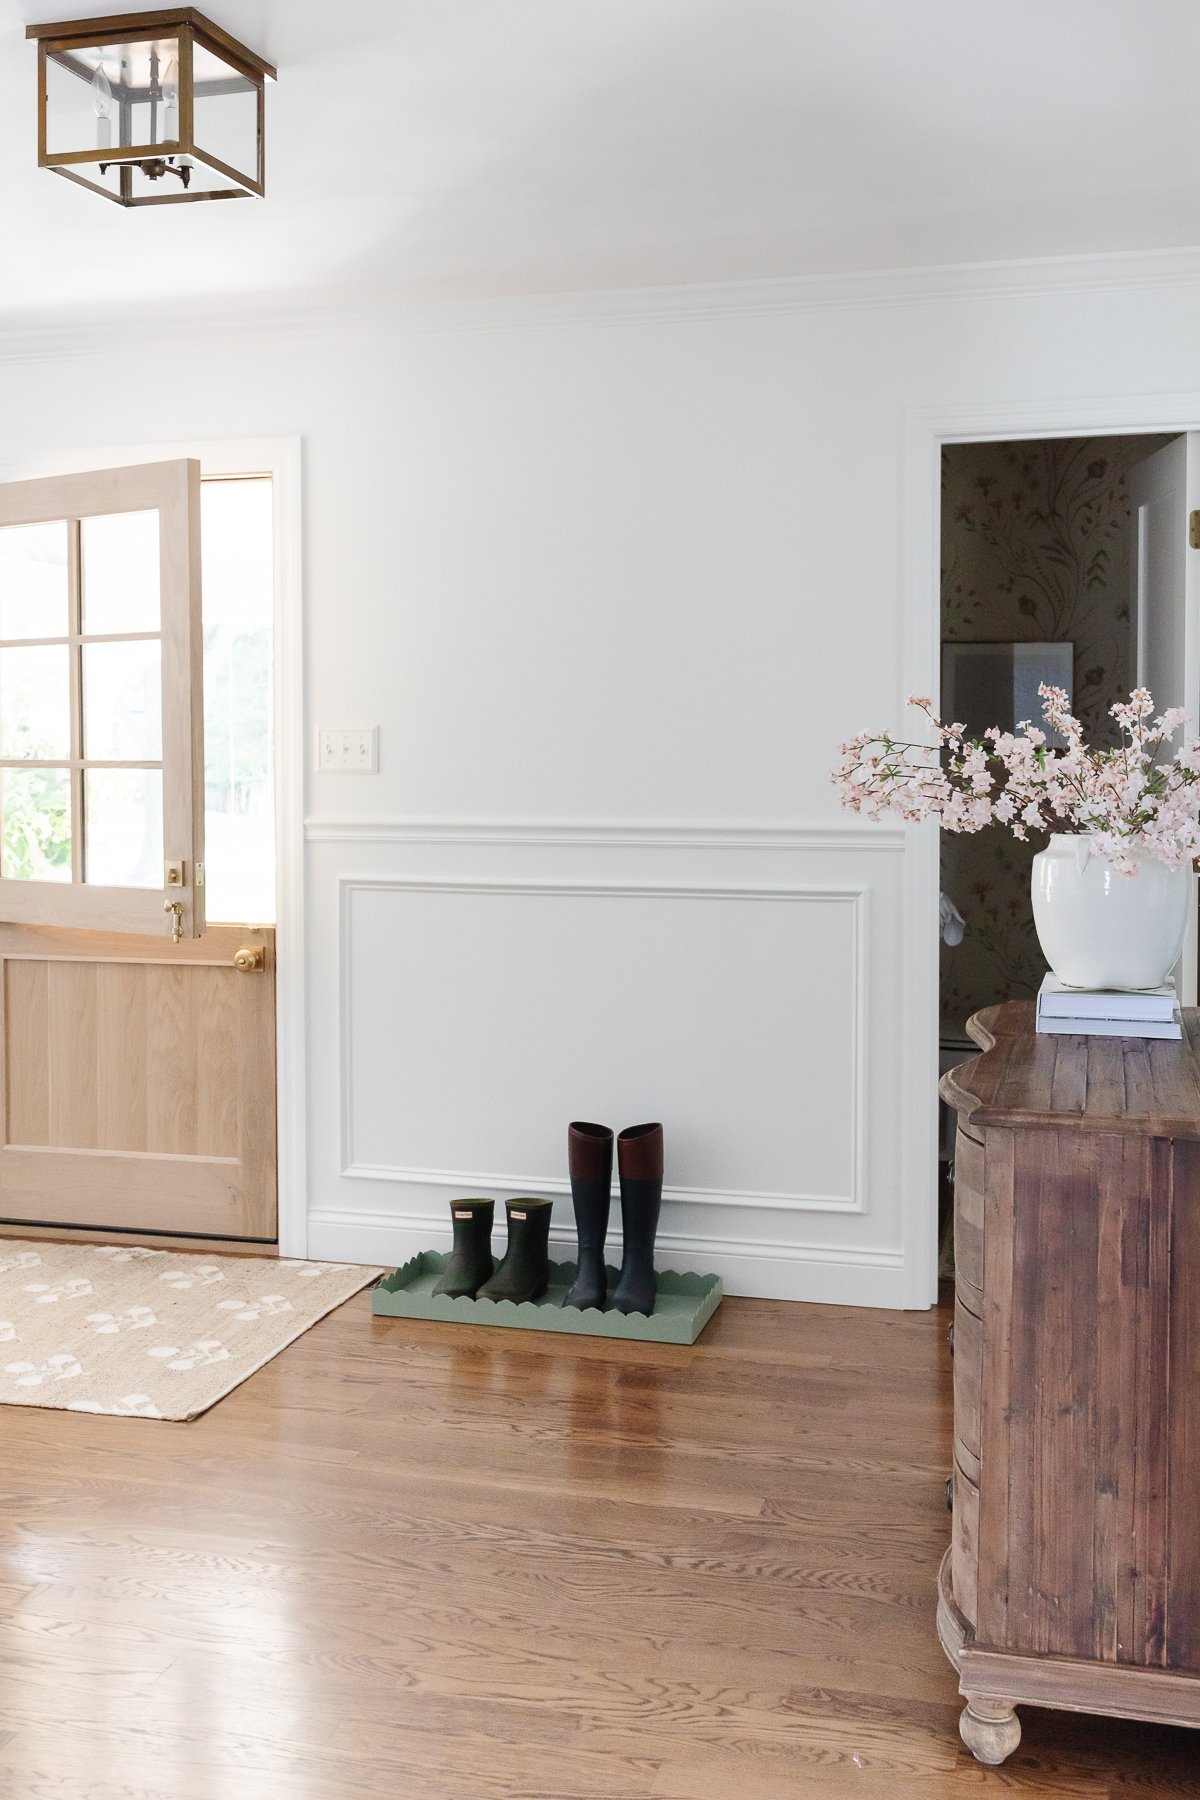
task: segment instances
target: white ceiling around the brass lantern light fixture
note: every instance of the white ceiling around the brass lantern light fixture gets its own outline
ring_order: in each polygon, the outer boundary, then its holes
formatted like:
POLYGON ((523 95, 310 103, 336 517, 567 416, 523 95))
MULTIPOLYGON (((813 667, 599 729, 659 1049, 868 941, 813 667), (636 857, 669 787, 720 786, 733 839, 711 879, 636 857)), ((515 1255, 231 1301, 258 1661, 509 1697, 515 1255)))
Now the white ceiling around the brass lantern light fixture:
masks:
POLYGON ((210 0, 279 65, 268 198, 36 167, 0 0, 0 322, 1200 245, 1196 0, 210 0))

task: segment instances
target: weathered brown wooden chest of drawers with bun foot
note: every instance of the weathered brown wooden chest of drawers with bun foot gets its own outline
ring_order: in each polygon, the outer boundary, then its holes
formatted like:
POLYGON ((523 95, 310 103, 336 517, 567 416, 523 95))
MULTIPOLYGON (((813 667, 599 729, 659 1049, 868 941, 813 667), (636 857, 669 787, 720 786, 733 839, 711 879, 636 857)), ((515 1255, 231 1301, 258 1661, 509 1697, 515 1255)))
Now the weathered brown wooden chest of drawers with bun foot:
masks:
POLYGON ((1020 1703, 1200 1726, 1200 1013, 1182 1044, 979 1013, 955 1148, 937 1631, 981 1762, 1020 1703))

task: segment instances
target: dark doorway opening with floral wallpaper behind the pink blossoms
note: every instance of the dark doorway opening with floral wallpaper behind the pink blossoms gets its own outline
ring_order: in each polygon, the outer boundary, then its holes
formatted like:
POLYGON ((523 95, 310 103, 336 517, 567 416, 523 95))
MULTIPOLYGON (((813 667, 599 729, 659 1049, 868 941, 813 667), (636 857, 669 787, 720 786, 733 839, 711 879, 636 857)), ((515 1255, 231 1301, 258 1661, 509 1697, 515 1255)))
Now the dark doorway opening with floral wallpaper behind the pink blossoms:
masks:
MULTIPOLYGON (((1090 743, 1144 684, 1196 707, 1187 668, 1189 436, 1038 437, 941 446, 941 697, 972 734, 1040 724, 1040 680, 1067 688, 1090 743)), ((1191 502, 1195 504, 1195 500, 1191 502)), ((977 1055, 968 1019, 1033 999, 1045 974, 1029 900, 1042 837, 941 833, 939 1069, 977 1055)), ((1195 927, 1180 970, 1195 1003, 1195 927)), ((954 1123, 941 1109, 939 1242, 954 1123)))

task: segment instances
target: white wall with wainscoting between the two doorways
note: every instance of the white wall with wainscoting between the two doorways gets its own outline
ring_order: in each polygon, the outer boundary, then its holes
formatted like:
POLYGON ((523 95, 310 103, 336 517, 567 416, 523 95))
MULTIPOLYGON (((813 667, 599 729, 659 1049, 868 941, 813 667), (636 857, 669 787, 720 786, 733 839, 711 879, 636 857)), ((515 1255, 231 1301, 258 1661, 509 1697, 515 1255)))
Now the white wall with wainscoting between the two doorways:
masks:
POLYGON ((936 416, 1200 391, 1195 275, 0 344, 7 466, 304 439, 306 742, 380 725, 378 776, 309 774, 315 1255, 565 1195, 569 1118, 662 1118, 662 1262, 928 1301, 930 862, 828 769, 932 659, 936 416))

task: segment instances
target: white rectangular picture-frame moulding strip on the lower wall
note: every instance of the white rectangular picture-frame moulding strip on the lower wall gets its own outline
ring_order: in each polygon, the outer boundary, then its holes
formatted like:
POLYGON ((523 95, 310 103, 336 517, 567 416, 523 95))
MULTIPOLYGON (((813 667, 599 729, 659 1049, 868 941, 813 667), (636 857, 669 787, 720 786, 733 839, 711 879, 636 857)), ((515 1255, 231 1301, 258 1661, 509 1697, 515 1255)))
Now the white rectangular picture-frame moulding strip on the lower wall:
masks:
POLYGON ((849 1193, 774 1193, 756 1190, 727 1188, 682 1188, 664 1186, 664 1204, 685 1202, 689 1206, 741 1206, 761 1211, 783 1213, 865 1213, 867 1210, 867 886, 768 886, 745 887, 732 884, 693 884, 693 882, 551 882, 551 880, 489 880, 475 877, 470 880, 423 878, 403 875, 344 875, 338 880, 338 1125, 340 1125, 340 1174, 347 1181, 385 1181, 398 1186, 453 1186, 479 1193, 511 1190, 513 1193, 570 1193, 567 1179, 547 1179, 543 1175, 479 1170, 430 1170, 405 1165, 360 1163, 354 1154, 354 1021, 351 1001, 351 974, 354 961, 354 925, 353 898, 356 893, 477 893, 477 895, 531 895, 536 898, 601 898, 601 900, 743 900, 761 902, 842 902, 851 907, 853 958, 851 958, 851 1049, 849 1049, 849 1091, 851 1091, 851 1179, 849 1193))

